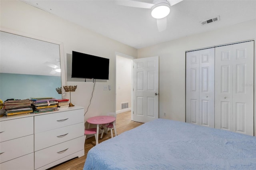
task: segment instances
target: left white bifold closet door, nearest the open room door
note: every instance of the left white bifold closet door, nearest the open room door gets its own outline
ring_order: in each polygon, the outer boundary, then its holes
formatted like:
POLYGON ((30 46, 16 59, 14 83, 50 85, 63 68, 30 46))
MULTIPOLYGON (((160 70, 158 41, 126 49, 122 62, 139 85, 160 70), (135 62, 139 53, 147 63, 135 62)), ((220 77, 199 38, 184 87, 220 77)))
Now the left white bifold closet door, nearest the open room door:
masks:
POLYGON ((214 128, 214 48, 186 53, 186 122, 214 128))

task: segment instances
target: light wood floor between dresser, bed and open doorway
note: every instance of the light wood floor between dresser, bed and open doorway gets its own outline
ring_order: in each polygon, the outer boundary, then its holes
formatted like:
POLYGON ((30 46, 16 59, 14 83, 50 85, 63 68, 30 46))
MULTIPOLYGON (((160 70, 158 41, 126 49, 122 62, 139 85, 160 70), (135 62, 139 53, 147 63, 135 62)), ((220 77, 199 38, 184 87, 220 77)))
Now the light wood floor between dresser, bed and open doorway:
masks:
MULTIPOLYGON (((131 121, 131 112, 124 112, 117 114, 116 116, 116 131, 118 134, 121 134, 122 132, 125 132, 127 130, 130 130, 132 128, 136 128, 138 126, 142 125, 142 123, 131 121)), ((113 130, 114 133, 114 130, 113 130)), ((99 138, 99 143, 111 138, 110 132, 108 134, 104 134, 103 138, 99 138)), ((80 158, 74 158, 72 160, 69 160, 67 162, 64 162, 58 166, 54 166, 50 168, 49 170, 82 170, 84 167, 84 162, 86 160, 87 152, 95 146, 95 138, 91 137, 86 139, 84 144, 84 156, 80 158)))

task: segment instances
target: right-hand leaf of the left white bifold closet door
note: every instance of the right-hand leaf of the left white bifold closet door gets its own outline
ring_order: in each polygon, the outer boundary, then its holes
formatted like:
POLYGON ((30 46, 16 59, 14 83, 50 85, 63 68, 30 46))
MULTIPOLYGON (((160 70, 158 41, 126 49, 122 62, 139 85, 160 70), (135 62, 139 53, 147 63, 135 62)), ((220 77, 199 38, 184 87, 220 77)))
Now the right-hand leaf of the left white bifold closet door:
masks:
POLYGON ((214 48, 202 49, 199 73, 199 125, 214 128, 214 48))

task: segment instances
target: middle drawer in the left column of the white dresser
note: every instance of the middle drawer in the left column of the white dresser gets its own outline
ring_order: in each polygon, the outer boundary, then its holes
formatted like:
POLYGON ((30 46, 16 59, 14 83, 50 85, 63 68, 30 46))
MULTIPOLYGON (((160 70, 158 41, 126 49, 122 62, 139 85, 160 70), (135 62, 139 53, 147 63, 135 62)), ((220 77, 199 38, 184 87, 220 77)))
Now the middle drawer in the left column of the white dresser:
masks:
POLYGON ((0 143, 0 163, 34 152, 34 135, 0 143))

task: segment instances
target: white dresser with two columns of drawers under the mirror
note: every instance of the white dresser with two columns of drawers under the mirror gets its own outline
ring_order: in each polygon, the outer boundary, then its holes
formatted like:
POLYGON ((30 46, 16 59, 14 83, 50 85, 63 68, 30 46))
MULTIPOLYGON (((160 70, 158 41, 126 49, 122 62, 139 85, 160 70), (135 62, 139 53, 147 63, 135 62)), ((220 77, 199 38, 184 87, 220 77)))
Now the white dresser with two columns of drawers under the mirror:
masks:
POLYGON ((84 156, 84 108, 0 118, 0 169, 45 170, 84 156))

